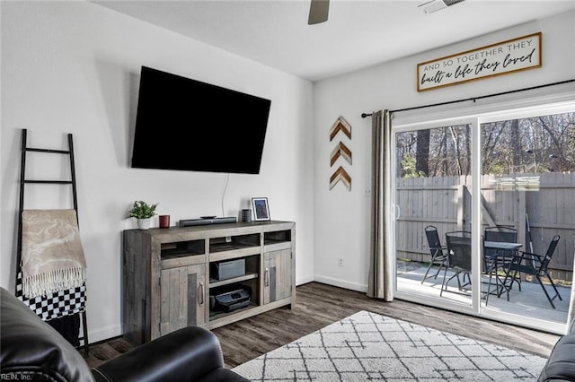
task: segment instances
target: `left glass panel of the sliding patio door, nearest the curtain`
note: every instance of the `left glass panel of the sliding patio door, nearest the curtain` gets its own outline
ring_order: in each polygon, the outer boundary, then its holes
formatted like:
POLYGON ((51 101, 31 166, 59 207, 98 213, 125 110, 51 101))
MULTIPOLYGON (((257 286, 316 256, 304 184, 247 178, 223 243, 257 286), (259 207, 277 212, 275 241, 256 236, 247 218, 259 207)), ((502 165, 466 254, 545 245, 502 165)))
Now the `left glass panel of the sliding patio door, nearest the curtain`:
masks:
POLYGON ((397 291, 472 309, 471 124, 410 126, 394 137, 397 291))

